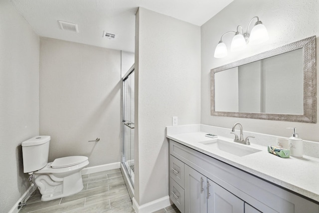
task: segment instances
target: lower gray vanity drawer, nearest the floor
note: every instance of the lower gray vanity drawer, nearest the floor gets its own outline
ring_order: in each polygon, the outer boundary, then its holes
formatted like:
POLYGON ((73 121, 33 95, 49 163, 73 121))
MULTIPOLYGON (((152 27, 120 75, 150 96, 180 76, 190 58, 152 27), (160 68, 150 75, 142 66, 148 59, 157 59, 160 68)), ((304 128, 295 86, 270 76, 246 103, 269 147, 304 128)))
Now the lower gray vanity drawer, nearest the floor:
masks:
POLYGON ((181 213, 185 212, 184 190, 172 178, 169 181, 169 198, 181 213))

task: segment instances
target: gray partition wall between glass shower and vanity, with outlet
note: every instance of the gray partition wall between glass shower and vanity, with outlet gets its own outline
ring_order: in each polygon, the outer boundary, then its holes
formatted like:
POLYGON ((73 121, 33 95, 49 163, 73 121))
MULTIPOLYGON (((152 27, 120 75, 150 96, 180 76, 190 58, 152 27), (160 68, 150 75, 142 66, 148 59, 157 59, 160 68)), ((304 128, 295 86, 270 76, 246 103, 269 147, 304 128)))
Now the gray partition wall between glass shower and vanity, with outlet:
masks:
POLYGON ((135 199, 143 205, 168 195, 171 117, 200 122, 200 27, 140 8, 136 33, 135 199))

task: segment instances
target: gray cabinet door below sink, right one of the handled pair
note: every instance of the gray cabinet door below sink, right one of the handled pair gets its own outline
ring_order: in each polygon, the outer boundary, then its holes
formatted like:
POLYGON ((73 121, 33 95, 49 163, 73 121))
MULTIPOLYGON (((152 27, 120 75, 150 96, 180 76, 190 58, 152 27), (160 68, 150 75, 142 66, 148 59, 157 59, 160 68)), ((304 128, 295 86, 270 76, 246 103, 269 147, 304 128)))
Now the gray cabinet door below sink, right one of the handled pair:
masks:
POLYGON ((244 213, 244 202, 207 179, 208 213, 244 213))

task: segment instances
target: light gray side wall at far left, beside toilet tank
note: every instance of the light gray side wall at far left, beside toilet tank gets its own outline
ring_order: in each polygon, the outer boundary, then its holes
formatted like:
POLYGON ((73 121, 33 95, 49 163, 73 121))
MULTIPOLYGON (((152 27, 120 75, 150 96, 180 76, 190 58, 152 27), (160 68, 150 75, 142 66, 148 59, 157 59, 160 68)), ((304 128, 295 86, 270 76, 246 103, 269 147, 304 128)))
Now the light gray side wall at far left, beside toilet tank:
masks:
POLYGON ((0 1, 0 212, 8 212, 29 187, 21 142, 39 131, 39 37, 0 1))

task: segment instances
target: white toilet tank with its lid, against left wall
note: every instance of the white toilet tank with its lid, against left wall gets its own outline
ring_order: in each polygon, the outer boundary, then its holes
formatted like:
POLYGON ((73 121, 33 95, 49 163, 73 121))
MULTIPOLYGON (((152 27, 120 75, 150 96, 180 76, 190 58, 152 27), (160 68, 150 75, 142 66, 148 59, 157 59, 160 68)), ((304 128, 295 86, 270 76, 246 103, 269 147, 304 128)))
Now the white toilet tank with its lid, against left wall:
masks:
POLYGON ((50 136, 35 136, 22 142, 23 172, 34 172, 48 163, 50 136))

